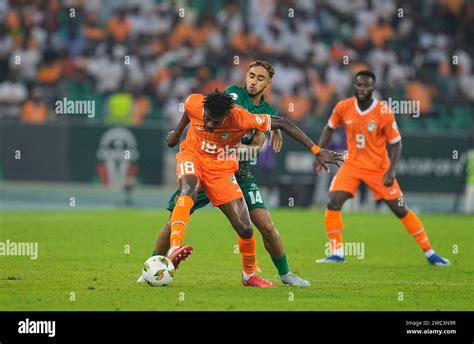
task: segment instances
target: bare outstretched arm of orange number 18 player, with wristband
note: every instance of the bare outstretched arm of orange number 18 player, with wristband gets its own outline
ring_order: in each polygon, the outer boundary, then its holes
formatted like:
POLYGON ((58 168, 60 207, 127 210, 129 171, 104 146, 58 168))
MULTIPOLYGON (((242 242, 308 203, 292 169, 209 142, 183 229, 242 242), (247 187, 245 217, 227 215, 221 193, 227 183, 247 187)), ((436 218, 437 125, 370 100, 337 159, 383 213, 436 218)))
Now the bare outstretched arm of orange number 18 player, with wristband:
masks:
POLYGON ((311 150, 311 152, 313 152, 316 157, 313 165, 313 170, 315 173, 319 173, 321 166, 326 171, 329 171, 327 164, 335 164, 339 166, 339 164, 344 161, 342 154, 326 149, 321 149, 305 133, 303 133, 300 128, 284 117, 272 117, 271 129, 283 130, 288 134, 288 136, 311 150))

